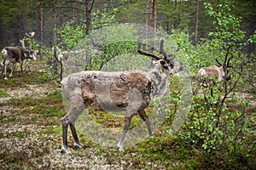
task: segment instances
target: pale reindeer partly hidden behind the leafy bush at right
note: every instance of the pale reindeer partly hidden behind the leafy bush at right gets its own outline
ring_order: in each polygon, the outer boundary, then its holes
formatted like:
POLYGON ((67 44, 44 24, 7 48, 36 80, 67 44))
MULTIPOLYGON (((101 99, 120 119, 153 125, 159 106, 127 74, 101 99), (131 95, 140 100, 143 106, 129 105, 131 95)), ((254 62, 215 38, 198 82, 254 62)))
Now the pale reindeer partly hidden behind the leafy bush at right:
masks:
MULTIPOLYGON (((228 59, 226 68, 230 67, 230 65, 229 65, 230 59, 228 59)), ((196 77, 196 82, 197 82, 196 88, 193 93, 194 95, 197 94, 198 90, 201 88, 202 82, 207 83, 207 85, 209 86, 209 88, 211 90, 211 94, 212 94, 213 93, 212 86, 214 83, 216 83, 216 82, 214 82, 214 79, 216 79, 218 82, 221 82, 224 79, 224 77, 226 78, 225 81, 230 80, 230 75, 228 74, 228 71, 226 73, 224 71, 224 65, 220 64, 220 62, 218 62, 218 59, 216 59, 216 61, 219 66, 211 65, 209 67, 203 67, 198 71, 198 74, 196 77), (227 75, 225 75, 225 74, 227 74, 227 75)))

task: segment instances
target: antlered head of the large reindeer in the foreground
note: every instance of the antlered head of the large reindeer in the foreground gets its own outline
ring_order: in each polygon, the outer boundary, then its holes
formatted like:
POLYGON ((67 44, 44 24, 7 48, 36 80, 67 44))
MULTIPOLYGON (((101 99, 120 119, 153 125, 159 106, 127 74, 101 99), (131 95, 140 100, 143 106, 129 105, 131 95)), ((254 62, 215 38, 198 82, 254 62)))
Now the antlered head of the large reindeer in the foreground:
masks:
POLYGON ((157 56, 153 53, 145 52, 141 49, 138 49, 137 52, 139 54, 147 55, 154 58, 154 67, 157 67, 158 69, 160 69, 160 71, 166 72, 168 75, 173 75, 178 71, 177 69, 174 69, 175 61, 173 61, 173 59, 175 57, 172 56, 172 54, 167 54, 166 50, 164 50, 164 40, 160 40, 160 56, 157 56))

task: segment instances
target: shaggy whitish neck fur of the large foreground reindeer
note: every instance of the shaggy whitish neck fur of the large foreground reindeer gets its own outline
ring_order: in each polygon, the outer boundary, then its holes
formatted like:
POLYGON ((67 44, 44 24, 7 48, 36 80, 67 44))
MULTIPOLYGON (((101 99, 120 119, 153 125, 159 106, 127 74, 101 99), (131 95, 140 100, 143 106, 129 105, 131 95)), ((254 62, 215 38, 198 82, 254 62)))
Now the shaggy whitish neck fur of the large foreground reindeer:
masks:
POLYGON ((159 69, 149 71, 148 76, 150 77, 153 97, 160 97, 165 94, 169 86, 170 76, 159 69))

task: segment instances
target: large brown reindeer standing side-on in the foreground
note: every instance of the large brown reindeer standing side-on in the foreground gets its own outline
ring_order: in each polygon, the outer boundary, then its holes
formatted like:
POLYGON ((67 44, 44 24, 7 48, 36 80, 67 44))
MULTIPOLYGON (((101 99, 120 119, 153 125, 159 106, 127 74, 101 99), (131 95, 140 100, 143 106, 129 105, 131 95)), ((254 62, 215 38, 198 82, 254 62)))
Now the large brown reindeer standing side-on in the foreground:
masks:
POLYGON ((70 99, 67 114, 61 118, 62 147, 61 153, 68 153, 67 127, 70 126, 74 146, 82 148, 75 129, 79 115, 90 107, 96 111, 126 111, 125 126, 117 144, 124 150, 125 135, 130 127, 131 118, 137 112, 148 128, 148 136, 153 133, 145 108, 154 97, 166 93, 170 77, 176 73, 173 69, 174 57, 164 50, 164 41, 160 41, 160 56, 138 49, 137 52, 155 59, 150 71, 81 71, 63 78, 61 86, 70 99))

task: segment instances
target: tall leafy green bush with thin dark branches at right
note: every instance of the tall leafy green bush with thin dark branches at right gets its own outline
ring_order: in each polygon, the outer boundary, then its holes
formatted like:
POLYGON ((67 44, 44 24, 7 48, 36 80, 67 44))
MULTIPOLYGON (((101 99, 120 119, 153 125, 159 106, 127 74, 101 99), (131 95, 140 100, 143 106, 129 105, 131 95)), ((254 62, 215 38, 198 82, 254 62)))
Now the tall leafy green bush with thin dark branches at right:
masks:
POLYGON ((252 156, 252 145, 255 145, 247 140, 251 138, 248 132, 252 130, 246 111, 250 102, 241 99, 236 91, 239 91, 237 84, 244 82, 241 75, 247 66, 243 64, 245 55, 241 54, 241 49, 252 43, 253 37, 244 39, 246 32, 240 29, 241 18, 229 13, 234 8, 230 3, 219 4, 218 8, 205 3, 205 7, 214 19, 215 30, 209 33, 208 39, 201 40, 196 46, 186 41, 188 37, 181 38, 179 46, 186 48, 187 52, 184 62, 189 65, 192 75, 196 76, 200 67, 214 64, 215 59, 226 66, 224 71, 227 73, 230 59, 233 65, 229 69, 231 80, 215 84, 212 94, 207 86, 201 87, 201 93, 193 97, 191 111, 183 125, 183 138, 206 150, 208 156, 214 150, 220 150, 227 156, 249 157, 252 156))

